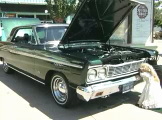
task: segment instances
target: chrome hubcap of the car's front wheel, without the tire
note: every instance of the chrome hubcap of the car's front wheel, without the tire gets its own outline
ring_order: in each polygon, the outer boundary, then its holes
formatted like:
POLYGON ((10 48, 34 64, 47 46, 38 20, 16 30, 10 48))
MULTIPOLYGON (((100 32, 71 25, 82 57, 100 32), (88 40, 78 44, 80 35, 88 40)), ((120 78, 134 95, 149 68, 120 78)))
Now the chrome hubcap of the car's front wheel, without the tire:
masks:
POLYGON ((58 103, 66 102, 68 98, 67 94, 68 91, 66 83, 61 76, 54 76, 52 84, 52 92, 58 103))

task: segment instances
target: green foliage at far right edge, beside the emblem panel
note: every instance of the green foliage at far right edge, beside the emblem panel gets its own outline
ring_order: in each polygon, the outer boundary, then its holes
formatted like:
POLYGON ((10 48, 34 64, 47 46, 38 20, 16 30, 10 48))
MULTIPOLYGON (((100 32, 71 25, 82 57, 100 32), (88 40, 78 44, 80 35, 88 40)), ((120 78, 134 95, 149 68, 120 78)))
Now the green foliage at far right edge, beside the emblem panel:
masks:
POLYGON ((162 27, 162 9, 158 9, 157 7, 162 4, 162 2, 157 2, 154 4, 154 25, 162 27))

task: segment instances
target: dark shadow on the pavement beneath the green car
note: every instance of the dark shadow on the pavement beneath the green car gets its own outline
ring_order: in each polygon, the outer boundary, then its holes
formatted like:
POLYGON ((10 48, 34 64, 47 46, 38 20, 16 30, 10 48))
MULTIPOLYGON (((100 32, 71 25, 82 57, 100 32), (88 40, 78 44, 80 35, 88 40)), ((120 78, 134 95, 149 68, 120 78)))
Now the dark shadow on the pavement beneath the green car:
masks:
POLYGON ((43 114, 51 119, 55 118, 55 120, 76 120, 115 108, 121 104, 135 105, 140 94, 137 92, 114 94, 106 99, 96 99, 88 103, 82 102, 73 108, 64 109, 56 105, 46 86, 17 72, 7 75, 3 72, 2 65, 0 65, 0 81, 28 101, 31 107, 37 108, 43 114))

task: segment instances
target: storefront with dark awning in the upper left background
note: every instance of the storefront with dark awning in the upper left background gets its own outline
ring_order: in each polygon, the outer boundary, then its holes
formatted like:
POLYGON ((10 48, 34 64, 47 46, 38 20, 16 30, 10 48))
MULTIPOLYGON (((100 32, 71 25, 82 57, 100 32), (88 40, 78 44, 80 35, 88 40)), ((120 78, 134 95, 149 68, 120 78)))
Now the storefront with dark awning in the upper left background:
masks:
POLYGON ((0 17, 50 20, 45 0, 0 0, 0 17))

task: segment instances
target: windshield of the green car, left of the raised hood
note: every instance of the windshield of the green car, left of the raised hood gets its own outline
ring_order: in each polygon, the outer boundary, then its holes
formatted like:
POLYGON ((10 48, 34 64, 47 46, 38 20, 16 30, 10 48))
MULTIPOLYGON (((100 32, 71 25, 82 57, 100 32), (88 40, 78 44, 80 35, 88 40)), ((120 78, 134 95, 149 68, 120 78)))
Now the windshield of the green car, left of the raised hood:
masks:
POLYGON ((65 26, 37 27, 36 33, 40 44, 59 43, 65 31, 65 26))

